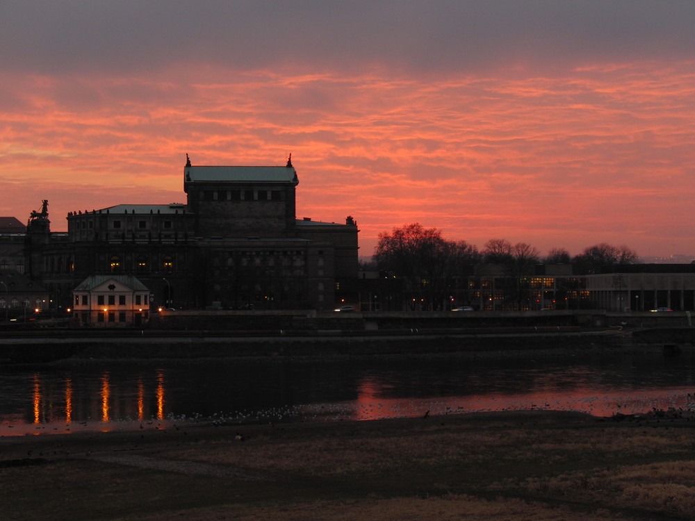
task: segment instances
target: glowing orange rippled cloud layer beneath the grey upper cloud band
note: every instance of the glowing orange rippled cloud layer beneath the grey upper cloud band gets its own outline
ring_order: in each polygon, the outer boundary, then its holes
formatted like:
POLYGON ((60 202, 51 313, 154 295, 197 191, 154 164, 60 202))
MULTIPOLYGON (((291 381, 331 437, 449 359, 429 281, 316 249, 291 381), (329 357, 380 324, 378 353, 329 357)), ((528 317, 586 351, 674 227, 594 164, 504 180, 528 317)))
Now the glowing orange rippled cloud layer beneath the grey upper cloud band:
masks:
POLYGON ((451 239, 573 253, 596 242, 689 253, 692 63, 563 74, 394 76, 213 65, 138 77, 8 76, 4 215, 182 201, 181 167, 283 164, 297 216, 353 215, 361 254, 407 222, 451 239))

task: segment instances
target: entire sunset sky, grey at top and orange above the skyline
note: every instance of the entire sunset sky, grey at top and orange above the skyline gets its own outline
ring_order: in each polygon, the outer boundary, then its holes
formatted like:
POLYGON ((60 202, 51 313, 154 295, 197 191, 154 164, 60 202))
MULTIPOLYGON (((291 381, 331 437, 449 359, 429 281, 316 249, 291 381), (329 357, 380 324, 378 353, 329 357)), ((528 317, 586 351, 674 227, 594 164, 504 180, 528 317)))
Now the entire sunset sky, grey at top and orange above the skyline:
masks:
POLYGON ((695 254, 692 0, 0 0, 0 215, 284 165, 297 217, 695 254))

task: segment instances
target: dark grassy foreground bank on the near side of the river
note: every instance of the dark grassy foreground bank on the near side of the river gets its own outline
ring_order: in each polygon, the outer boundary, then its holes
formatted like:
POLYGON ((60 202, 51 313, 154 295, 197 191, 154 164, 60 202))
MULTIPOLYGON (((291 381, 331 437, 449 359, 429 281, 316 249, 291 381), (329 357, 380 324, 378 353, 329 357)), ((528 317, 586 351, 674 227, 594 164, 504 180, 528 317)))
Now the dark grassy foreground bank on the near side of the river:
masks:
POLYGON ((692 520, 694 435, 531 411, 0 438, 0 519, 692 520))

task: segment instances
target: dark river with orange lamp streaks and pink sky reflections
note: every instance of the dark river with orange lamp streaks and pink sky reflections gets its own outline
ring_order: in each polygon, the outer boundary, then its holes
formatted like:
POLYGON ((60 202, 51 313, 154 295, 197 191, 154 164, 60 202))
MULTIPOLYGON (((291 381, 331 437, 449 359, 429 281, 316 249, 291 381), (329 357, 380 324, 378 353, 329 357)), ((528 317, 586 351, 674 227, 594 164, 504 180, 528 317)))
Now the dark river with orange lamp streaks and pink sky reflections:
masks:
POLYGON ((427 411, 610 416, 686 409, 695 402, 694 363, 691 352, 654 352, 4 366, 0 436, 190 422, 376 420, 427 411))

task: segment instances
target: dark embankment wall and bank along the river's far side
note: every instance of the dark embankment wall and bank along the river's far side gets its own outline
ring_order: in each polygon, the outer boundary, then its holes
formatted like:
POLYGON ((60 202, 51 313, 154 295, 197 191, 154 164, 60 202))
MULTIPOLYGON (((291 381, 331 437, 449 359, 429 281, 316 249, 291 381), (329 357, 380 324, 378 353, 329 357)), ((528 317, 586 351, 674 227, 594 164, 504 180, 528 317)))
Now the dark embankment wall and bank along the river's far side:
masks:
POLYGON ((475 355, 639 346, 668 346, 671 352, 678 352, 695 345, 695 328, 684 326, 688 317, 678 315, 626 317, 601 311, 371 315, 173 312, 157 317, 146 329, 35 327, 1 331, 0 363, 67 358, 475 355), (654 325, 645 327, 646 320, 654 325))

